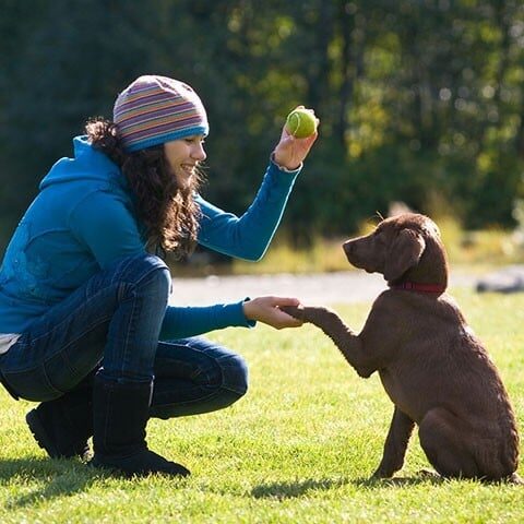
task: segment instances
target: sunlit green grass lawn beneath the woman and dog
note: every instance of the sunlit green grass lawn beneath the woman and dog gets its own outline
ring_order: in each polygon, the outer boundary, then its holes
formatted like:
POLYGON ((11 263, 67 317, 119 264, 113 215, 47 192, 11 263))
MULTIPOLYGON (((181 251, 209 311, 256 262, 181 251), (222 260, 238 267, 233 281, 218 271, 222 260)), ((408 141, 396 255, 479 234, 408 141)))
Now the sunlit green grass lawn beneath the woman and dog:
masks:
MULTIPOLYGON (((455 298, 489 347, 522 431, 524 295, 455 298)), ((369 305, 336 309, 359 329, 369 305)), ((212 336, 248 360, 248 395, 223 412, 148 424, 151 448, 192 469, 189 479, 118 479, 48 460, 25 427, 32 404, 2 391, 0 522, 524 522, 524 487, 419 476, 429 464, 416 437, 397 480, 368 483, 392 404, 377 377, 359 379, 314 327, 212 336)))

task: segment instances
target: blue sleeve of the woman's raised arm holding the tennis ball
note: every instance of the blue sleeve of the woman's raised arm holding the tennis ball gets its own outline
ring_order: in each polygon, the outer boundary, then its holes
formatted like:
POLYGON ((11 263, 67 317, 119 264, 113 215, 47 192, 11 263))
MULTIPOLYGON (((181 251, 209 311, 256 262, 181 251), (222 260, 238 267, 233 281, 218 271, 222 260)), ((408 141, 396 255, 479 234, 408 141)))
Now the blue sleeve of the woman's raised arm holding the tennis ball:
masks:
POLYGON ((199 243, 230 257, 260 260, 278 227, 299 172, 283 171, 271 162, 257 196, 240 217, 196 195, 202 211, 199 243))

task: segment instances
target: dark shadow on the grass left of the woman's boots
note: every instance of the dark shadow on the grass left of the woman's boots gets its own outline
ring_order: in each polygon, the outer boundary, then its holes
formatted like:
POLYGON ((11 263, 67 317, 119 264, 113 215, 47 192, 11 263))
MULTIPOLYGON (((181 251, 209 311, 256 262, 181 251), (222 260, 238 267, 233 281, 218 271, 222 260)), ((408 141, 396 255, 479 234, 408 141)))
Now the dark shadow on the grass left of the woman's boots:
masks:
MULTIPOLYGON (((94 480, 106 477, 76 460, 15 458, 0 460, 0 486, 16 478, 22 486, 35 485, 23 495, 10 497, 8 508, 24 508, 57 497, 68 497, 84 490, 94 480)), ((25 489, 24 489, 25 491, 25 489)))

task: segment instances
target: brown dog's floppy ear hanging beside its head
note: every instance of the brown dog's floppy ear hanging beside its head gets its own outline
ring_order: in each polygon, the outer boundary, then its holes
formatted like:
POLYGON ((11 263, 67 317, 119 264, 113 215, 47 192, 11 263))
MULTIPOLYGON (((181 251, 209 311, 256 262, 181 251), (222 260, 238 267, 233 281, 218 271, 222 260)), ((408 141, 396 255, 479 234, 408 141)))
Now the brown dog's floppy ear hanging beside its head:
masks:
POLYGON ((402 229, 390 248, 384 265, 388 282, 398 279, 407 270, 418 264, 426 249, 422 236, 413 229, 402 229))

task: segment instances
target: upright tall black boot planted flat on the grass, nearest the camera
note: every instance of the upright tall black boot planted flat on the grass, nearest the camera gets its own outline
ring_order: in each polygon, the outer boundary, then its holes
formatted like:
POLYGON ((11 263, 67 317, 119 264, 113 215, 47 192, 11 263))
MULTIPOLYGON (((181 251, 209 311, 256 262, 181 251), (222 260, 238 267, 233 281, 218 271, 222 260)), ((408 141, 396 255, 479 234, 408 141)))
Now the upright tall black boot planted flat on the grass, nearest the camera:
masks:
POLYGON ((187 476, 180 464, 167 461, 147 449, 145 426, 148 419, 153 383, 118 383, 95 377, 93 390, 95 455, 91 464, 124 475, 164 473, 187 476))

